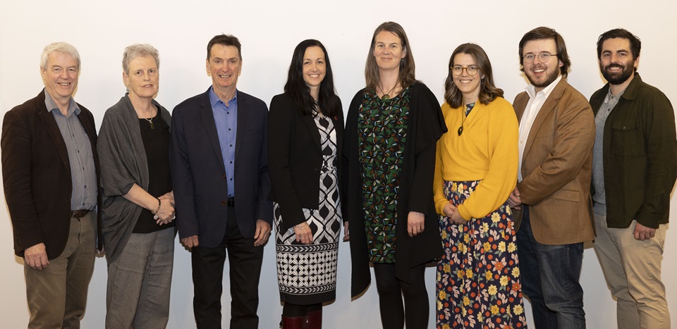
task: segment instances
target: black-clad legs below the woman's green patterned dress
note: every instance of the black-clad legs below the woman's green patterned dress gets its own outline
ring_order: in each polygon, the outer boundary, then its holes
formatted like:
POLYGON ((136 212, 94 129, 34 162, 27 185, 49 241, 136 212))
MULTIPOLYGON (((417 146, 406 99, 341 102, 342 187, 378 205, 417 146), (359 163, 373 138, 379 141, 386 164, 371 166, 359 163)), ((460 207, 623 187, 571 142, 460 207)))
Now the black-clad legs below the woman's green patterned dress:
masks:
POLYGON ((375 263, 379 309, 384 329, 425 329, 428 326, 428 293, 425 264, 410 269, 410 283, 395 278, 395 264, 375 263), (404 304, 402 303, 404 297, 404 304))

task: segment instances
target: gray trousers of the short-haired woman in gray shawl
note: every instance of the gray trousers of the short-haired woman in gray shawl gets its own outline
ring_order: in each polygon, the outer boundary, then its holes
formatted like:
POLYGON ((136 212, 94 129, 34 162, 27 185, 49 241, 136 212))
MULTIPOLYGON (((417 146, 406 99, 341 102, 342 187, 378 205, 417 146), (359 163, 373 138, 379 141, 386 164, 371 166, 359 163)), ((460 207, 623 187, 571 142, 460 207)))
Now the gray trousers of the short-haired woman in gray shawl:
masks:
POLYGON ((106 328, 166 328, 174 232, 132 233, 108 266, 106 328))

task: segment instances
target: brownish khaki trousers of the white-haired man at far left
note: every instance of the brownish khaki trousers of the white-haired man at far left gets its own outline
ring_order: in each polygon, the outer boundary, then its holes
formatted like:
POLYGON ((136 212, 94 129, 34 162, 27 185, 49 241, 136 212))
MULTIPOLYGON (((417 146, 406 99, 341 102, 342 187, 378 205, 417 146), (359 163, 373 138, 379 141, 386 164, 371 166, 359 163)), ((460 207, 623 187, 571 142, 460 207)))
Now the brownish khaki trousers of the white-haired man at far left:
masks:
POLYGON ((49 260, 47 268, 37 271, 24 264, 28 328, 80 328, 94 271, 92 216, 96 213, 90 211, 82 218, 71 218, 66 248, 49 260))

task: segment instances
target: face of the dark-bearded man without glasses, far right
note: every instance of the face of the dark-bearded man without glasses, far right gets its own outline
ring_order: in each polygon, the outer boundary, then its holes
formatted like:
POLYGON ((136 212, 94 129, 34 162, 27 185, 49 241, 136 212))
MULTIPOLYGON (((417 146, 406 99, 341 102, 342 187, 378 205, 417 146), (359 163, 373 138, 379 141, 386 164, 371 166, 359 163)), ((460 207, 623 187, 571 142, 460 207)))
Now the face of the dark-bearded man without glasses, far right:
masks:
POLYGON ((630 40, 623 38, 606 39, 602 43, 599 70, 611 85, 621 85, 635 75, 640 58, 633 59, 630 40))

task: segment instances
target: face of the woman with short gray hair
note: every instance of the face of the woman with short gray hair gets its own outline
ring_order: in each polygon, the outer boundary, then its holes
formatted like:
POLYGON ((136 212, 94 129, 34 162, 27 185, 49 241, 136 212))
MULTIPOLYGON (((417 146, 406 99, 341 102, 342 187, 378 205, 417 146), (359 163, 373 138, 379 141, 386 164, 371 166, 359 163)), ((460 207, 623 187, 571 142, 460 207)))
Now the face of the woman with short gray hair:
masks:
POLYGON ((137 57, 129 62, 129 73, 122 73, 130 97, 152 99, 159 88, 160 73, 155 59, 137 57))

